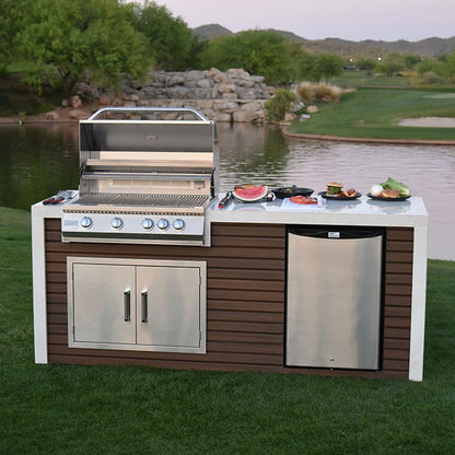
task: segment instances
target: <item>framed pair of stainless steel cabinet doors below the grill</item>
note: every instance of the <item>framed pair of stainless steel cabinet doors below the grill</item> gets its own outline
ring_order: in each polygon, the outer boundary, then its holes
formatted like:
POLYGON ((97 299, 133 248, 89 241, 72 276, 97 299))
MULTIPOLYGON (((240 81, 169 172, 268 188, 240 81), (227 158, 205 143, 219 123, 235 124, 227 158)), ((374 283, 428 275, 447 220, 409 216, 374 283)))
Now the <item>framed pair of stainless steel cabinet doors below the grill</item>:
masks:
POLYGON ((69 346, 206 352, 206 262, 69 257, 69 346))

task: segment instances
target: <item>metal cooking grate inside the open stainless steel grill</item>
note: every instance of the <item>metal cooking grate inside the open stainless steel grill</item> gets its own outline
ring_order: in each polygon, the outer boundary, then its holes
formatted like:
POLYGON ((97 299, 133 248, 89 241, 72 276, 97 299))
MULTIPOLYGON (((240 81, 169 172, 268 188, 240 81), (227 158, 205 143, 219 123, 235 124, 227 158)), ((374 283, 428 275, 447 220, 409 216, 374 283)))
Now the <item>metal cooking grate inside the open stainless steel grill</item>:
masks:
POLYGON ((135 195, 117 192, 92 192, 83 195, 78 201, 81 206, 148 206, 166 208, 205 207, 207 195, 135 195))

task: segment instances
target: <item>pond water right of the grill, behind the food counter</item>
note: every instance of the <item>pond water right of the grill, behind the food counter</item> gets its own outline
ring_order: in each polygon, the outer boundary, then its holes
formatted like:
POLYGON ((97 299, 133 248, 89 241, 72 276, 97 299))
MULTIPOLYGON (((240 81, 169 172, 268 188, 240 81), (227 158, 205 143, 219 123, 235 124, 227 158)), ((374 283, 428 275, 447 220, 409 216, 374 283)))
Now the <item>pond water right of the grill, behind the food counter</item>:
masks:
POLYGON ((338 180, 366 195, 388 176, 421 196, 430 215, 429 256, 455 260, 455 147, 287 140, 270 126, 221 125, 220 187, 240 183, 325 190, 338 180))

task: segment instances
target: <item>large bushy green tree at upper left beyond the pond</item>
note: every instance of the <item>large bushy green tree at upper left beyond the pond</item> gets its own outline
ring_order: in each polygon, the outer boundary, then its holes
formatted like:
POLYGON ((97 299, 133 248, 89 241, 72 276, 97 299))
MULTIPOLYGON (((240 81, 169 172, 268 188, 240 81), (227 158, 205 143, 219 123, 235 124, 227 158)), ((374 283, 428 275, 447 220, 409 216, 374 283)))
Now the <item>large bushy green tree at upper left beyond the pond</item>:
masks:
POLYGON ((150 63, 132 5, 117 0, 35 0, 15 36, 26 82, 69 94, 75 82, 118 84, 120 73, 143 75, 150 63))

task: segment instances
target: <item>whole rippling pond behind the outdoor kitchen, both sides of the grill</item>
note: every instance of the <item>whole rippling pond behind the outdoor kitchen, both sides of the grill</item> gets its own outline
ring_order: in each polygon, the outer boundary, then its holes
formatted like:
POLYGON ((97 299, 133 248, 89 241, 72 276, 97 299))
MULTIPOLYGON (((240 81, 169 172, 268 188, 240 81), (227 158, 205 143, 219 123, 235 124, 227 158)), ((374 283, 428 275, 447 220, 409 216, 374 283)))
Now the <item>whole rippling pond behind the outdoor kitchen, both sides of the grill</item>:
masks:
MULTIPOLYGON (((338 180, 369 192, 388 176, 421 196, 430 214, 429 257, 455 260, 455 147, 287 139, 273 126, 218 125, 220 191, 240 183, 325 190, 338 180)), ((79 184, 78 125, 0 127, 0 206, 30 206, 79 184)))

